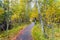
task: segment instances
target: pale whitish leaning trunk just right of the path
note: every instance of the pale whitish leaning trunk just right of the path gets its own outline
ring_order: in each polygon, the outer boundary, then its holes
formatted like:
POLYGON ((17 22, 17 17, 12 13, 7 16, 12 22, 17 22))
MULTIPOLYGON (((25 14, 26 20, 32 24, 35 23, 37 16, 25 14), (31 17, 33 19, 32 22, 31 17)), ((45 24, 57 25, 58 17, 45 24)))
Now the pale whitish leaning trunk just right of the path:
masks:
POLYGON ((43 23, 43 20, 42 20, 42 15, 41 15, 41 7, 42 7, 42 3, 38 3, 38 0, 35 0, 35 3, 36 3, 36 6, 38 8, 38 15, 40 16, 40 23, 41 23, 41 28, 42 28, 42 32, 45 33, 44 31, 44 23, 43 23))

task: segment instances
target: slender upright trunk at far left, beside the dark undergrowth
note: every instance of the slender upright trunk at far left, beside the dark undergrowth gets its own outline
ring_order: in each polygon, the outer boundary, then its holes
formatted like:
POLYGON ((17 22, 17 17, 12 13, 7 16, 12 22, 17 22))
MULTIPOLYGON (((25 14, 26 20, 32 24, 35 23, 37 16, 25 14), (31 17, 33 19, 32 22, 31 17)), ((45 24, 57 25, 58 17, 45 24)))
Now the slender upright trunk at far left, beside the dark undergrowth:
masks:
MULTIPOLYGON (((6 34, 8 39, 8 28, 9 28, 9 0, 6 0, 7 4, 4 4, 4 14, 5 14, 5 21, 6 21, 6 34)), ((4 1, 5 3, 5 1, 4 1)))

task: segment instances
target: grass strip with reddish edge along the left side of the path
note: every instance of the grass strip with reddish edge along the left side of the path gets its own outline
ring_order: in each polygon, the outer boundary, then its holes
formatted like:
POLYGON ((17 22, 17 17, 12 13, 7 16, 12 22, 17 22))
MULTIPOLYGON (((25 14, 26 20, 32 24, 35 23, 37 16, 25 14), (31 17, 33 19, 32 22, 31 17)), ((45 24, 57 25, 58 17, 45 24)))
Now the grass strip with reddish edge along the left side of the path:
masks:
POLYGON ((16 26, 11 30, 4 31, 3 33, 0 34, 0 40, 11 40, 17 33, 25 28, 27 24, 22 24, 20 26, 16 26))

